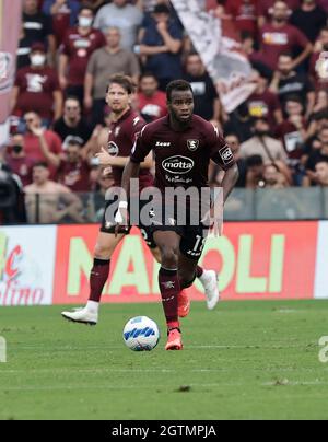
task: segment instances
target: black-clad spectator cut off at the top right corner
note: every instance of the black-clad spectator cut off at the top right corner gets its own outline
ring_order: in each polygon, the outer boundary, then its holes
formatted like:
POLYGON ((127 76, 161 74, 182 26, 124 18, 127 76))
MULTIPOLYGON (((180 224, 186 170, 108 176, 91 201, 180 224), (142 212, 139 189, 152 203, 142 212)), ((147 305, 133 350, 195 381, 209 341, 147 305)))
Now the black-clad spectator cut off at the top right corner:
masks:
POLYGON ((302 0, 301 8, 293 12, 290 23, 314 44, 321 28, 327 25, 327 13, 316 0, 302 0))

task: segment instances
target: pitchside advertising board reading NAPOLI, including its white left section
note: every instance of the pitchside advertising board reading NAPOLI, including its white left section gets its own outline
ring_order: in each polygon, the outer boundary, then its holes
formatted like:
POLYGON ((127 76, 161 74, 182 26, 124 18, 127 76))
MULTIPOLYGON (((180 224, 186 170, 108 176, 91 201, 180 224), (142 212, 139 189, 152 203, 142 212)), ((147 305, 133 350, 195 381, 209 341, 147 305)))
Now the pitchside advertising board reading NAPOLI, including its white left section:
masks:
MULTIPOLYGON (((97 225, 0 228, 0 306, 83 304, 97 225)), ((226 223, 201 259, 222 299, 328 299, 328 222, 226 223)), ((160 301, 159 265, 134 229, 112 259, 103 302, 160 301)), ((199 282, 189 289, 203 301, 199 282)))

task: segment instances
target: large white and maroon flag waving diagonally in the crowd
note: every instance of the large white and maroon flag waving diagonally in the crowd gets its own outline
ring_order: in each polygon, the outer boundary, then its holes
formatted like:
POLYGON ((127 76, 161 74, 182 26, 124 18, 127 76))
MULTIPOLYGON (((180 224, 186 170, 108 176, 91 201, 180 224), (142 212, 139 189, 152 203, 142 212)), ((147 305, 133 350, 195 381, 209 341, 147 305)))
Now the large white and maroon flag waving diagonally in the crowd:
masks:
POLYGON ((172 0, 191 42, 201 56, 227 113, 255 91, 251 66, 242 50, 232 20, 215 14, 216 1, 172 0))

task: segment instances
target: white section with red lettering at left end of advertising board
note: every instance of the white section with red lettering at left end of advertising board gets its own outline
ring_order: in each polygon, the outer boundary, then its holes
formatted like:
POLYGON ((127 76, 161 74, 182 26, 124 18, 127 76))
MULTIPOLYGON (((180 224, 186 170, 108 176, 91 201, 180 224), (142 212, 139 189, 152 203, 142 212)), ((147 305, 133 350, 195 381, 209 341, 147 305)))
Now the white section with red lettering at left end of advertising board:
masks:
POLYGON ((56 226, 0 229, 0 305, 52 303, 56 226))

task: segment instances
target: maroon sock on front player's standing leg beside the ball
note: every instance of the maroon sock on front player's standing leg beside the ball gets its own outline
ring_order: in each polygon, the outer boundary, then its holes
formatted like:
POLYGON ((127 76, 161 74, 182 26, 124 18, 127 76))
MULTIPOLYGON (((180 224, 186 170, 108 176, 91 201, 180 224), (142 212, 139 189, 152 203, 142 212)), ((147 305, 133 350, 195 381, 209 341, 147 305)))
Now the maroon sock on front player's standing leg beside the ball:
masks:
POLYGON ((167 270, 162 267, 160 269, 159 282, 167 327, 179 328, 178 294, 180 292, 180 284, 177 270, 167 270))

